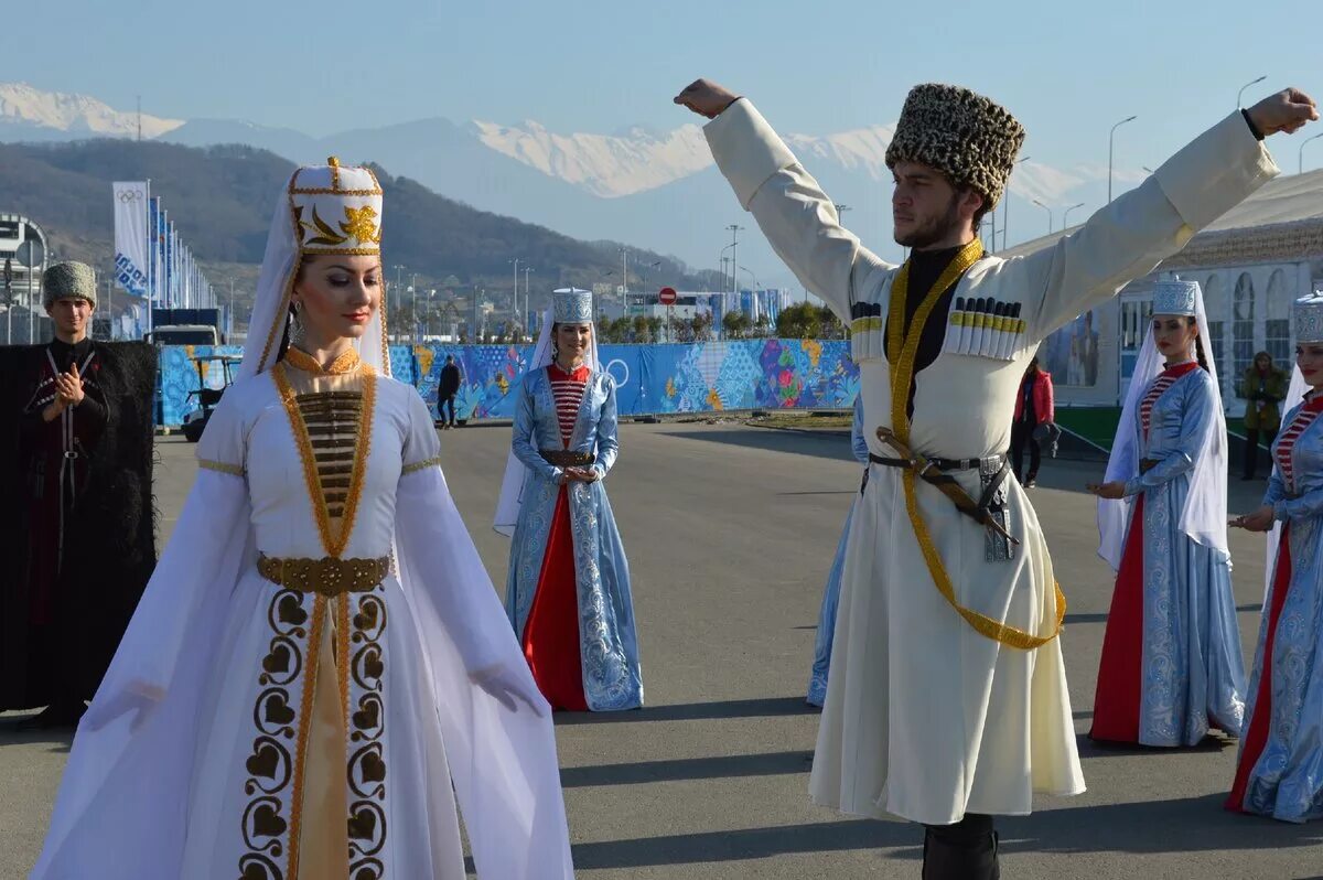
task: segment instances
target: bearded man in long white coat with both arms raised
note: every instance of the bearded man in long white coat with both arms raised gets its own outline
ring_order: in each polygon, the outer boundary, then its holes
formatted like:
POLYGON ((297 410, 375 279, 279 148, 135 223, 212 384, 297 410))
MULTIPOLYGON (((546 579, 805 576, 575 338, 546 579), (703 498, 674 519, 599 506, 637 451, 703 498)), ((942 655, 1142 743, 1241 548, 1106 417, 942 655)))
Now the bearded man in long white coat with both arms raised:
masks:
POLYGON ((1025 494, 1011 412, 1041 339, 1115 295, 1277 175, 1261 144, 1318 119, 1286 90, 1196 138, 1082 229, 1029 257, 983 253, 1024 128, 941 85, 910 91, 886 151, 893 266, 840 225, 753 103, 700 79, 676 97, 740 204, 804 286, 849 322, 868 488, 849 535, 815 802, 927 826, 925 880, 998 876, 994 815, 1078 794, 1065 601, 1025 494))

